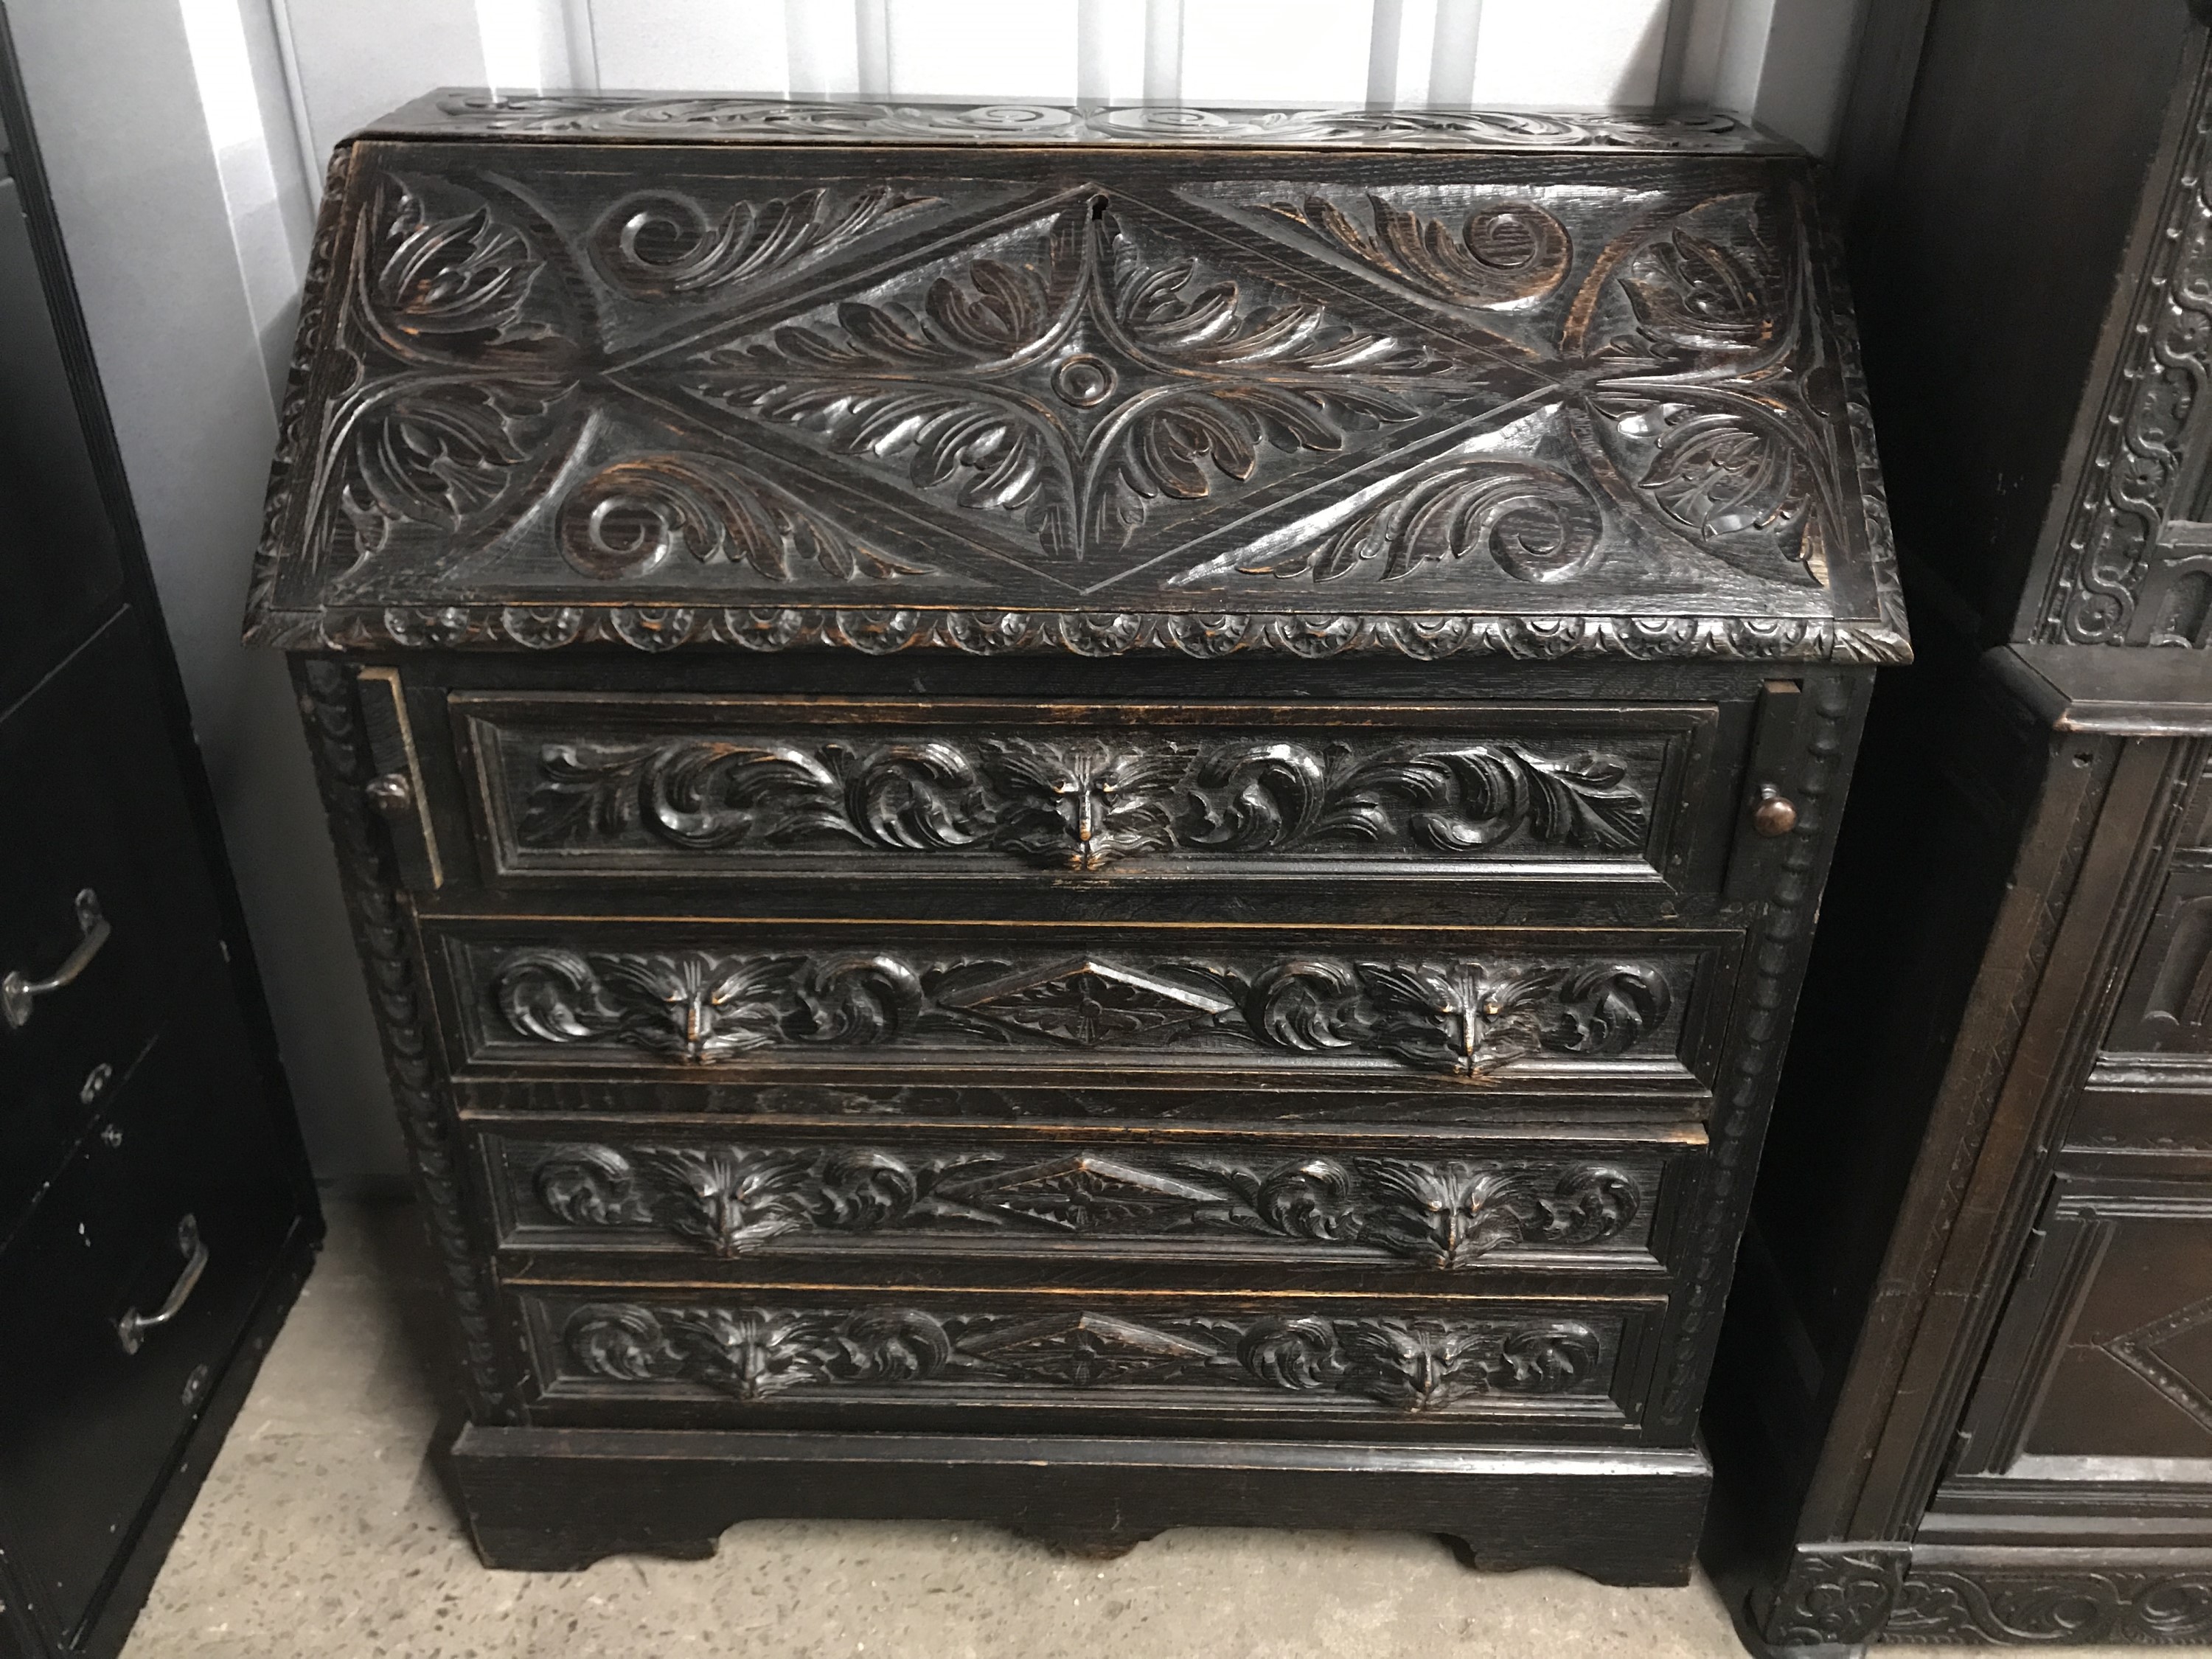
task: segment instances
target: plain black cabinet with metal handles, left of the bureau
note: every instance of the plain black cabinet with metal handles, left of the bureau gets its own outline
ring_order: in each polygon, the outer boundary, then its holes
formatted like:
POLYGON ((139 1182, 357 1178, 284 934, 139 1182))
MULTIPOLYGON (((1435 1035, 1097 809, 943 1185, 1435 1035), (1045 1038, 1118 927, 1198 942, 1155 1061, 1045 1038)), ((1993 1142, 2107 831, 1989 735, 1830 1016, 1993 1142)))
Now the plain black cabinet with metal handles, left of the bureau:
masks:
POLYGON ((106 1659, 321 1217, 4 18, 0 131, 0 1655, 106 1659))

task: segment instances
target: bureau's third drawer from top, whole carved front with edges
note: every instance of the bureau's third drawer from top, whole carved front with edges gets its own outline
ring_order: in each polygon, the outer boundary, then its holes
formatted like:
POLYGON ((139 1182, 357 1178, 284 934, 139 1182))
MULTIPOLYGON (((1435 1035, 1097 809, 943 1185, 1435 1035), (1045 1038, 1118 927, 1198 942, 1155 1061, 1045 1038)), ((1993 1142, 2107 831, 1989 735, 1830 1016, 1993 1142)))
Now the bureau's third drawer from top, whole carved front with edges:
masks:
POLYGON ((511 1252, 929 1283, 951 1263, 1077 1263, 1376 1283, 1659 1272, 1694 1126, 1650 1139, 1192 1133, 774 1133, 741 1124, 478 1128, 511 1252))

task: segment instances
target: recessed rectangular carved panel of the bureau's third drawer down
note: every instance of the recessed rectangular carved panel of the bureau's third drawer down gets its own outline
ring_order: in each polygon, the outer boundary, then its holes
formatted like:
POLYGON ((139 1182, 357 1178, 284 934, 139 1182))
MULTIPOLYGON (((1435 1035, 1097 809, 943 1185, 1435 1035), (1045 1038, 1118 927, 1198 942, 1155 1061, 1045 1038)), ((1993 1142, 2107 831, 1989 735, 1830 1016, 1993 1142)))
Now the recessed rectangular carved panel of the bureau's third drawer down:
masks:
POLYGON ((1513 1259, 1650 1263, 1668 1148, 1316 1152, 1093 1141, 794 1144, 504 1139, 489 1146, 513 1248, 1263 1256, 1464 1272, 1513 1259))

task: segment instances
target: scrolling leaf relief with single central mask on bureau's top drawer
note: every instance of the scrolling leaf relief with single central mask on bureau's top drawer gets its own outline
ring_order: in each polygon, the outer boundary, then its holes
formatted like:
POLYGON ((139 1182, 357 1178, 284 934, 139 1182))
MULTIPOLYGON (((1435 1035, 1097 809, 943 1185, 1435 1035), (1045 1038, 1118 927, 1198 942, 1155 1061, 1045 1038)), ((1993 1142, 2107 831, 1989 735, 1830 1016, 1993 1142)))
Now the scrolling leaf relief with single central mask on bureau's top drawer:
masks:
POLYGON ((1650 834, 1655 783, 1617 754, 1509 741, 577 739, 535 750, 515 834, 562 849, 995 852, 1066 869, 1332 845, 1624 854, 1650 834))

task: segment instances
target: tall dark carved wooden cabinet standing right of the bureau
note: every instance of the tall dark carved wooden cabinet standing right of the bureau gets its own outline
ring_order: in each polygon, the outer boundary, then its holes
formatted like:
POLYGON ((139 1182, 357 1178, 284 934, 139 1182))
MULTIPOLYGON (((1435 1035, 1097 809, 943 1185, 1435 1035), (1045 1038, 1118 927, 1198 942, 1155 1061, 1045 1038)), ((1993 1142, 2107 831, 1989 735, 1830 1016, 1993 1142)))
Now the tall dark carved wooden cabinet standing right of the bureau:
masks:
POLYGON ((2208 29, 1878 7, 1843 179, 1885 677, 1730 1307, 1776 1650, 2212 1639, 2208 29))

